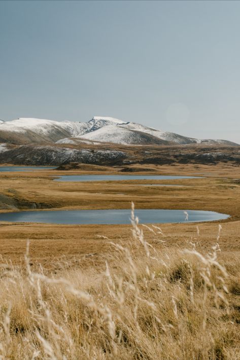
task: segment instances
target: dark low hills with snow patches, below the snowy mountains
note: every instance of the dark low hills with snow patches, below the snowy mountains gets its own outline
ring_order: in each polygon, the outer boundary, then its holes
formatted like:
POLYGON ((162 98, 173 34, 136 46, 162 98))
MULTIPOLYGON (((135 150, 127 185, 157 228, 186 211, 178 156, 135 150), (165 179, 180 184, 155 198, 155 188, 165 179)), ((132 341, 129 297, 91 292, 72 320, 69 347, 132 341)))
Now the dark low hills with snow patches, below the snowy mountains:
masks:
MULTIPOLYGON (((0 163, 22 165, 61 165, 78 162, 95 165, 131 166, 170 164, 234 164, 240 165, 240 147, 209 145, 4 145, 0 163)), ((126 169, 127 166, 127 169, 126 169)))

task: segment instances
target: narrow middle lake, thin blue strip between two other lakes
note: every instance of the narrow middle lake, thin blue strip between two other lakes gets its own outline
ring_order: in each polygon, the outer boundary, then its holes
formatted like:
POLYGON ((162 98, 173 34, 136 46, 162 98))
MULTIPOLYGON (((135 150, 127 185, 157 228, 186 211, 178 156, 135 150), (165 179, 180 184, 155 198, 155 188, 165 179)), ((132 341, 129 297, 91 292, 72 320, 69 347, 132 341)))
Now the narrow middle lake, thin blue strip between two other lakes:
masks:
POLYGON ((176 180, 201 178, 199 176, 171 176, 171 175, 63 175, 55 181, 89 182, 89 181, 122 181, 122 180, 176 180))

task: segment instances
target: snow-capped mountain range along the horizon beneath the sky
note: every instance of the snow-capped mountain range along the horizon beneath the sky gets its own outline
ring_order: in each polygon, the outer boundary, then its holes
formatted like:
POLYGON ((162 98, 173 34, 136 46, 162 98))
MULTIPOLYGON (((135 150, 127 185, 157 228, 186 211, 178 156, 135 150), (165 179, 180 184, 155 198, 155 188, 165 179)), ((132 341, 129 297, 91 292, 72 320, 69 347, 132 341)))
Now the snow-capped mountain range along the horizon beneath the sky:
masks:
POLYGON ((53 121, 20 118, 0 121, 0 142, 23 145, 26 143, 72 143, 74 145, 101 142, 122 145, 174 145, 208 143, 237 145, 227 140, 201 140, 173 132, 153 129, 141 124, 124 122, 111 117, 93 117, 88 122, 53 121))

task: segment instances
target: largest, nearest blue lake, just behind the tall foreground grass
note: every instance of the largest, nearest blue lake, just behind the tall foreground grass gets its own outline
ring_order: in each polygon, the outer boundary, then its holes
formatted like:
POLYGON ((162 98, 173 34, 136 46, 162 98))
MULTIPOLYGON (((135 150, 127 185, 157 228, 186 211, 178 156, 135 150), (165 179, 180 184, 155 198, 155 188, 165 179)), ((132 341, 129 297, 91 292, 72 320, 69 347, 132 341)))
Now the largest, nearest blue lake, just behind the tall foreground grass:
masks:
MULTIPOLYGON (((185 213, 188 222, 214 221, 229 218, 229 215, 203 210, 164 210, 136 209, 135 216, 141 224, 185 223, 185 213)), ((17 211, 0 213, 1 221, 49 223, 49 224, 130 224, 129 209, 108 210, 53 210, 53 211, 17 211)))

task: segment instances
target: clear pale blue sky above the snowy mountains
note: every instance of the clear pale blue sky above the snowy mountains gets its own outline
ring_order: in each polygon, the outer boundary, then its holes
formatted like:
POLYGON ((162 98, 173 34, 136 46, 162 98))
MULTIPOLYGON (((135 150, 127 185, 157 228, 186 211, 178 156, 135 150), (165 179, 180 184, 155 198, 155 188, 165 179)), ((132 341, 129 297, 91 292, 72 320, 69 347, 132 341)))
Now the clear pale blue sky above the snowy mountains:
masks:
POLYGON ((0 119, 240 143, 240 2, 0 1, 0 119))

